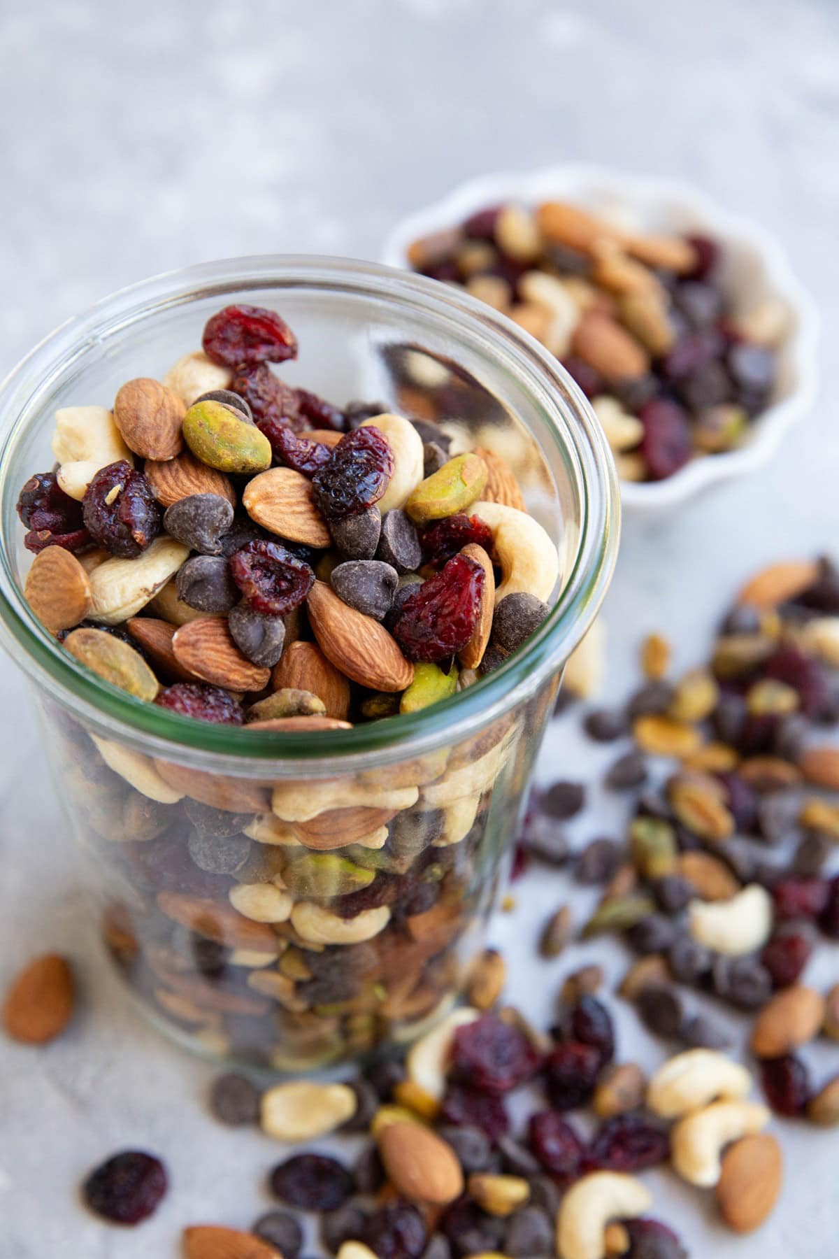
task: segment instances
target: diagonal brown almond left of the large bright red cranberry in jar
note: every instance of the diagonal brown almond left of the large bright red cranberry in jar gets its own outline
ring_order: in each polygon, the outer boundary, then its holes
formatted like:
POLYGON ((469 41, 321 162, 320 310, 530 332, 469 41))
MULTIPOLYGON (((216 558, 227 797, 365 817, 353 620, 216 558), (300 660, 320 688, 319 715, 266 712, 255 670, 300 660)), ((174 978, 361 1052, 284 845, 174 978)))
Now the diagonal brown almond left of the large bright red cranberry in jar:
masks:
POLYGON ((314 583, 307 606, 321 651, 353 682, 374 691, 410 686, 414 666, 377 621, 346 604, 326 582, 314 583))

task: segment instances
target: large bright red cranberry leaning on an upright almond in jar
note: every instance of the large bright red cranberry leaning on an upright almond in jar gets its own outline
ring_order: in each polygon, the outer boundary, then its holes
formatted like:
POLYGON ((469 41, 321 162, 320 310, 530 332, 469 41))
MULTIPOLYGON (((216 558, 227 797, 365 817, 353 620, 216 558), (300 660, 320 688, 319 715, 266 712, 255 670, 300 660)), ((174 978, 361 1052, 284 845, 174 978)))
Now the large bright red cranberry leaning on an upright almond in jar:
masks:
POLYGON ((455 555, 403 603, 392 635, 409 660, 439 663, 469 642, 481 614, 484 570, 455 555))

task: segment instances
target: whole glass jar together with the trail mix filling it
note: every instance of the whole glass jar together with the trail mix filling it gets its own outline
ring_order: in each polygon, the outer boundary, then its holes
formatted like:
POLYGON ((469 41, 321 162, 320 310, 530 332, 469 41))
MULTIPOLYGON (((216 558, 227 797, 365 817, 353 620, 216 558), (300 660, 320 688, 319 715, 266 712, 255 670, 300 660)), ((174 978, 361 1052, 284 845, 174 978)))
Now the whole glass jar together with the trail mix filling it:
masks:
POLYGON ((0 421, 3 642, 126 982, 278 1071, 415 1036, 611 575, 579 390, 468 296, 264 258, 107 298, 0 421))

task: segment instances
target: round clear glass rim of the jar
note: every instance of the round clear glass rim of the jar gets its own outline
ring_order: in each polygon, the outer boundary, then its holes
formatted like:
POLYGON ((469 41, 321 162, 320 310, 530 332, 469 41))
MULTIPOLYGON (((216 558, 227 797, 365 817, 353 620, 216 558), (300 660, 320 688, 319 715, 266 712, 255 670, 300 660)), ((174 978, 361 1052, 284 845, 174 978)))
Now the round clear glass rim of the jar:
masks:
MULTIPOLYGON (((576 553, 550 614, 526 647, 448 700, 416 713, 385 718, 351 730, 309 734, 249 731, 215 725, 146 704, 83 669, 39 624, 15 579, 9 539, 0 526, 0 638, 39 686, 106 737, 142 745, 219 773, 265 774, 270 763, 287 774, 296 764, 340 762, 352 772, 405 759, 468 733, 477 721, 502 716, 556 672, 591 624, 611 579, 620 531, 620 496, 614 460, 594 410, 558 360, 530 334, 465 292, 410 272, 351 258, 268 254, 229 258, 170 271, 102 298, 36 345, 0 384, 0 487, 3 502, 18 487, 9 465, 23 432, 40 415, 38 398, 69 363, 133 322, 201 297, 224 298, 242 288, 321 288, 420 306, 455 327, 479 326, 520 383, 538 400, 547 432, 564 458, 571 457, 580 516, 576 553), (562 429, 557 414, 572 424, 562 429)), ((4 511, 4 521, 8 519, 4 511)))

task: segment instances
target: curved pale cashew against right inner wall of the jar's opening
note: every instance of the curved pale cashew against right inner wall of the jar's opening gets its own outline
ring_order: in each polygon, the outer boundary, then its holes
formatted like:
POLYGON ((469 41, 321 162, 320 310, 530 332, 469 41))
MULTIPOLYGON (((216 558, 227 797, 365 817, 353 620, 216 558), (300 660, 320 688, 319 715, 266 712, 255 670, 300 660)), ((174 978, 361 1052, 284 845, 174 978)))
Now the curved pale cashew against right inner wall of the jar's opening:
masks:
POLYGON ((496 589, 496 606, 520 590, 550 602, 560 577, 560 556, 540 522, 518 507, 483 499, 470 510, 492 529, 493 558, 503 574, 496 589))

